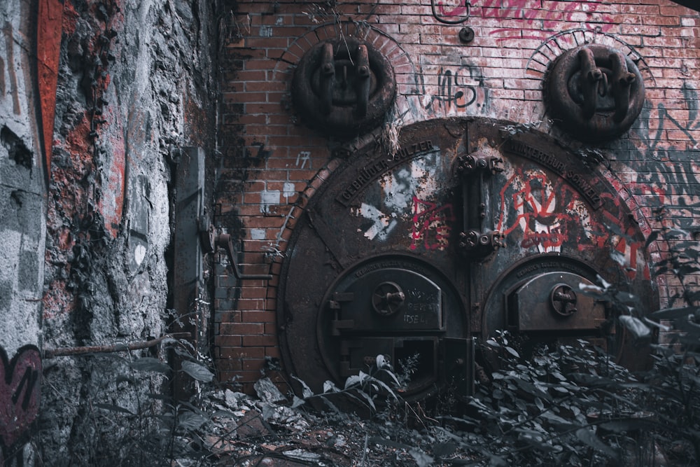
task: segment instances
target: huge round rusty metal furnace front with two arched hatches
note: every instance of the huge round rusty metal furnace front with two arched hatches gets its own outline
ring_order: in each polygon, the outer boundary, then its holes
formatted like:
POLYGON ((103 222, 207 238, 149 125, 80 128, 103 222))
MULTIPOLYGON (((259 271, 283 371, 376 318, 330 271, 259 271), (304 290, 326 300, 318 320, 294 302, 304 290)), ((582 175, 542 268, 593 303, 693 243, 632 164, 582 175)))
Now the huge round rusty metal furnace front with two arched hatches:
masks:
POLYGON ((290 239, 279 335, 312 388, 377 354, 418 357, 409 396, 468 388, 470 338, 500 329, 605 344, 613 307, 579 288, 598 276, 652 303, 638 225, 573 153, 493 120, 418 123, 398 142, 351 153, 290 239))

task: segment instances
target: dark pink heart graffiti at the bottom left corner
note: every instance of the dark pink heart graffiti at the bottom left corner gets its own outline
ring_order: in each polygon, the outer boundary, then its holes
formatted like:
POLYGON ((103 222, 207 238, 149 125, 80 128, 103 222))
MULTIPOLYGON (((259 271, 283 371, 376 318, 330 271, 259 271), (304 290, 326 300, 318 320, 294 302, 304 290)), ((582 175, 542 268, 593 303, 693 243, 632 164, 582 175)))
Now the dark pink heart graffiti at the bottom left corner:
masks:
POLYGON ((9 360, 0 347, 0 445, 4 461, 21 455, 18 451, 38 414, 40 393, 39 349, 25 345, 9 360))

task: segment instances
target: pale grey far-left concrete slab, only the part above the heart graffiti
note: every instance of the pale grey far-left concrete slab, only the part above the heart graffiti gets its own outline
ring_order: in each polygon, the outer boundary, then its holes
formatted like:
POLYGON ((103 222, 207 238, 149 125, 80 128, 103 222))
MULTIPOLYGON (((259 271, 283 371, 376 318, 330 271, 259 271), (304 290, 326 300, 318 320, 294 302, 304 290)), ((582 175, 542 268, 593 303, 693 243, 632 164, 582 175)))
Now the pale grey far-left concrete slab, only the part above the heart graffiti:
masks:
POLYGON ((45 172, 36 105, 31 5, 0 11, 0 344, 10 356, 38 344, 43 290, 45 172))

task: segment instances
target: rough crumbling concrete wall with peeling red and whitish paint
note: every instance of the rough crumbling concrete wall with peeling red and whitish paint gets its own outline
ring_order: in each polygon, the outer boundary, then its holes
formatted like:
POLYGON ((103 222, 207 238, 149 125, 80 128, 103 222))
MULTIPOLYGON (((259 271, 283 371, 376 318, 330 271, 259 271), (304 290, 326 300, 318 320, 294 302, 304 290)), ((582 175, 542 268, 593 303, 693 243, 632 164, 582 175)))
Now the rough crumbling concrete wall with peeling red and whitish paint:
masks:
MULTIPOLYGON (((171 330, 176 167, 183 147, 210 150, 214 134, 212 17, 207 2, 62 2, 44 350, 144 342, 171 330)), ((44 359, 39 462, 94 465, 112 448, 128 449, 118 440, 130 428, 96 404, 139 413, 161 379, 129 367, 152 355, 146 350, 104 355, 44 359)))

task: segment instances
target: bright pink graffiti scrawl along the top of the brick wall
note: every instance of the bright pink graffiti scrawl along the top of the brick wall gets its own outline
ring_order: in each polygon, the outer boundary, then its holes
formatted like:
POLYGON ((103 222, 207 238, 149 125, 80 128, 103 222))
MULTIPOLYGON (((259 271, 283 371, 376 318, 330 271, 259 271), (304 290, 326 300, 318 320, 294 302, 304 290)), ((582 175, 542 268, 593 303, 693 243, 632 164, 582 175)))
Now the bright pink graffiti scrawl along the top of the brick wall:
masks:
POLYGON ((496 28, 489 32, 499 41, 508 39, 546 39, 549 32, 558 29, 561 22, 587 25, 590 29, 601 28, 603 32, 615 27, 609 15, 596 13, 597 1, 547 1, 540 0, 475 0, 472 15, 484 19, 508 20, 512 27, 496 28))

